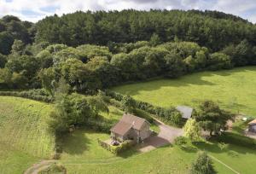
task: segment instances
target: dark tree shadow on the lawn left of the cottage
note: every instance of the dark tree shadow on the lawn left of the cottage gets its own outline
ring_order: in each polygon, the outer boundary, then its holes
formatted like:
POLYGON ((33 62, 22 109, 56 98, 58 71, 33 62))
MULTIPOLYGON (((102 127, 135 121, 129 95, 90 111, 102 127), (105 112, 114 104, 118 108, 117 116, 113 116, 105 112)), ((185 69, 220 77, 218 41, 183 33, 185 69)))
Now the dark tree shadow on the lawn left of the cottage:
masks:
POLYGON ((63 139, 62 152, 67 154, 83 154, 88 150, 90 139, 86 137, 83 130, 77 130, 63 139))

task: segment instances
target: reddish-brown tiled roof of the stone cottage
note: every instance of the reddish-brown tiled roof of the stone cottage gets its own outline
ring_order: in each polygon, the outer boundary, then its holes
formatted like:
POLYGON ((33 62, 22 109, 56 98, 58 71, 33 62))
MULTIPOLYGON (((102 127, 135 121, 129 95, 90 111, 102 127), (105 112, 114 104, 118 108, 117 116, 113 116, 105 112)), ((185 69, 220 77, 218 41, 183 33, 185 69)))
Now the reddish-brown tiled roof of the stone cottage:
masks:
POLYGON ((130 113, 125 113, 119 122, 110 129, 110 131, 119 134, 120 136, 124 136, 131 128, 140 131, 143 128, 144 123, 148 123, 148 121, 130 113))

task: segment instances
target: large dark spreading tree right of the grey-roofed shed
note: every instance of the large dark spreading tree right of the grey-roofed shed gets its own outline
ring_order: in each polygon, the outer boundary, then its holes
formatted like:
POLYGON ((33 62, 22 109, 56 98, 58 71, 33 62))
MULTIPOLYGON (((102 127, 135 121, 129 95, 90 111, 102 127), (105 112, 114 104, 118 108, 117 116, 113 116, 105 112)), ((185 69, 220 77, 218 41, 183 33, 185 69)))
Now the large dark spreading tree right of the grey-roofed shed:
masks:
POLYGON ((218 104, 212 101, 205 101, 201 103, 200 111, 194 117, 201 128, 210 131, 210 136, 212 136, 213 132, 218 135, 221 130, 226 130, 226 123, 234 119, 234 114, 220 109, 218 104))

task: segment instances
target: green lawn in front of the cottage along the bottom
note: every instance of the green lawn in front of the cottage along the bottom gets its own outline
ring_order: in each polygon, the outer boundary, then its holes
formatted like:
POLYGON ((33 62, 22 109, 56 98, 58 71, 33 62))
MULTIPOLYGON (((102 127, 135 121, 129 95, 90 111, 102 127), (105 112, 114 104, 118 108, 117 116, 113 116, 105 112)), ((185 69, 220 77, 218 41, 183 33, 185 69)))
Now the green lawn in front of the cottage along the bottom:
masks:
MULTIPOLYGON (((109 135, 79 130, 67 136, 61 164, 67 167, 68 173, 187 173, 196 153, 196 150, 166 146, 145 154, 128 151, 116 157, 97 144, 98 137, 108 139, 109 135)), ((210 142, 196 147, 241 173, 251 173, 256 163, 253 149, 230 145, 221 150, 216 143, 210 142)), ((218 173, 234 173, 216 160, 213 165, 218 173)))

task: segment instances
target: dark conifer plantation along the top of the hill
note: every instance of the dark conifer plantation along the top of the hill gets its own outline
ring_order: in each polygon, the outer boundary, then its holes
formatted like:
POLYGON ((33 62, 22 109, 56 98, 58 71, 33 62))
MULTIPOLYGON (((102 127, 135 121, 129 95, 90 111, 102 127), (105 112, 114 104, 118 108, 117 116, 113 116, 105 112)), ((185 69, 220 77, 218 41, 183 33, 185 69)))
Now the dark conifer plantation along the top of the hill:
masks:
POLYGON ((131 43, 159 36, 164 42, 175 37, 219 50, 251 37, 255 26, 234 15, 198 10, 123 10, 76 12, 49 16, 37 24, 37 41, 81 44, 131 43), (182 22, 181 22, 182 21, 182 22), (244 29, 246 28, 246 29, 244 29))

